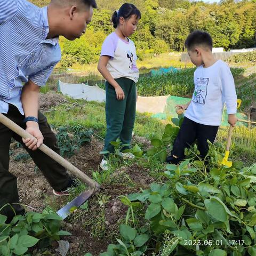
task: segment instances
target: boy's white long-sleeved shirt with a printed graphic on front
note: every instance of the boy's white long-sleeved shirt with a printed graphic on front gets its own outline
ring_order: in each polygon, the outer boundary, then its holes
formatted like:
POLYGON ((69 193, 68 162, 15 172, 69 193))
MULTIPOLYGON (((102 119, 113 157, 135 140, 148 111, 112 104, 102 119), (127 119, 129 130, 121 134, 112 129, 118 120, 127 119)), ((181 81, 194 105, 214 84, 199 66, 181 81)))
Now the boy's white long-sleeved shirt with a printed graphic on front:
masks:
POLYGON ((194 73, 195 92, 185 116, 205 125, 220 125, 226 103, 227 113, 235 114, 237 96, 233 75, 222 60, 211 67, 200 66, 194 73))

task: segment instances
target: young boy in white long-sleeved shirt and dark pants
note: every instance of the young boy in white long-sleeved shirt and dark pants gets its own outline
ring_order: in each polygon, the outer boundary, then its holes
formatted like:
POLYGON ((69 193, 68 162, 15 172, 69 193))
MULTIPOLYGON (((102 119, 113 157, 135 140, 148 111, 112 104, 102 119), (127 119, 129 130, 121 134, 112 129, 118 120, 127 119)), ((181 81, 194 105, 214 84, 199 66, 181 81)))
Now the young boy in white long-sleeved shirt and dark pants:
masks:
POLYGON ((201 30, 191 33, 185 42, 191 62, 196 65, 194 73, 195 92, 187 105, 178 105, 186 110, 184 121, 173 144, 171 156, 166 162, 178 164, 185 157, 184 150, 197 140, 201 158, 209 150, 221 124, 222 110, 226 102, 228 123, 237 122, 237 96, 234 78, 227 64, 215 60, 212 54, 211 36, 201 30))

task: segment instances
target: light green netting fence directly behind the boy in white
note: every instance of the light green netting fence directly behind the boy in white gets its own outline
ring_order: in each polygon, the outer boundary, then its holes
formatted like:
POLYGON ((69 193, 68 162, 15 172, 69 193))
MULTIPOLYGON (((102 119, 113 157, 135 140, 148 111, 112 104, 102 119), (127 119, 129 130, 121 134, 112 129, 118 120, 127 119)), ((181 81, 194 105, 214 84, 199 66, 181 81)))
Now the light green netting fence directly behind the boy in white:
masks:
MULTIPOLYGON (((169 98, 167 98, 166 100, 166 105, 165 105, 165 110, 164 113, 157 113, 154 114, 152 117, 158 118, 158 119, 166 119, 167 117, 177 117, 177 114, 175 112, 175 106, 176 105, 183 105, 186 104, 190 101, 190 99, 188 98, 181 98, 181 97, 175 97, 175 96, 170 96, 169 98)), ((237 118, 238 119, 243 119, 243 120, 247 120, 247 116, 243 113, 237 113, 237 118)), ((228 114, 227 114, 227 110, 226 108, 223 111, 223 115, 222 115, 222 122, 221 122, 222 126, 228 126, 228 114)), ((238 122, 237 125, 244 125, 247 126, 246 123, 244 122, 238 122)))

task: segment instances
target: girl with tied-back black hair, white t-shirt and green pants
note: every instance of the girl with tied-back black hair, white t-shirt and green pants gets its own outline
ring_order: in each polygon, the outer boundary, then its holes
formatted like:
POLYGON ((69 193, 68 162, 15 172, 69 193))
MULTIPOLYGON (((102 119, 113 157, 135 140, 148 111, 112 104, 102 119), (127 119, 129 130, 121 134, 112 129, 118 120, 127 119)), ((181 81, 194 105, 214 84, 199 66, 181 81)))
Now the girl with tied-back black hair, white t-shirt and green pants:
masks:
MULTIPOLYGON (((104 151, 114 151, 111 141, 118 138, 123 144, 131 143, 135 122, 139 70, 136 65, 137 55, 134 43, 129 39, 137 29, 141 13, 133 4, 123 4, 115 11, 112 22, 116 30, 105 39, 98 70, 106 79, 106 121, 107 133, 104 151)), ((127 148, 123 148, 125 150, 127 148)), ((126 158, 134 157, 131 153, 122 154, 126 158)), ((107 155, 100 164, 107 170, 107 155)))

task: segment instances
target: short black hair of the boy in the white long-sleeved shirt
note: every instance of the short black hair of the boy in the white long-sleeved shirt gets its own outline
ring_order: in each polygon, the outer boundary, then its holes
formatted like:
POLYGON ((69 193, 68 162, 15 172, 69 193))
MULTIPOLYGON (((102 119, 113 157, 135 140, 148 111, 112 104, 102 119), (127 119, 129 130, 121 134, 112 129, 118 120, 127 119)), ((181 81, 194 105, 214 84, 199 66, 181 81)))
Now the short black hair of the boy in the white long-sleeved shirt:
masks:
POLYGON ((196 46, 205 46, 212 51, 213 42, 209 33, 202 30, 195 30, 190 33, 185 41, 188 50, 193 50, 196 46))

